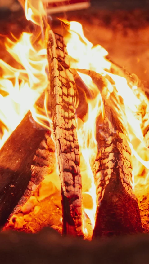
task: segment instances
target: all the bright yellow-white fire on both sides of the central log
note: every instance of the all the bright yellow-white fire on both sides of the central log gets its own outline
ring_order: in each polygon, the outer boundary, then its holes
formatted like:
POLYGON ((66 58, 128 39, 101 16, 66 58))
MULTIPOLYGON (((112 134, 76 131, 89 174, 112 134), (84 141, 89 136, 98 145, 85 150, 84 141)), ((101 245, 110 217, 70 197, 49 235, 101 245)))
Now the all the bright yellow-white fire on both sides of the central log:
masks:
MULTIPOLYGON (((6 142, 17 125, 30 110, 34 120, 47 130, 52 131, 52 121, 48 110, 49 85, 47 77, 47 51, 45 38, 49 28, 46 21, 46 13, 42 2, 37 1, 33 6, 30 1, 20 1, 25 8, 28 21, 35 25, 34 32, 23 32, 19 39, 12 35, 11 39, 5 39, 5 47, 11 58, 15 61, 16 68, 0 60, 2 76, 0 77, 0 147, 6 142), (46 28, 46 30, 44 30, 46 28), (44 109, 37 109, 35 102, 45 92, 44 109)), ((138 95, 138 83, 129 82, 122 76, 112 73, 113 64, 106 59, 108 52, 100 45, 93 46, 83 33, 82 25, 78 22, 70 22, 69 34, 66 37, 67 50, 70 55, 70 67, 77 73, 88 87, 92 98, 87 99, 88 111, 85 121, 78 117, 77 134, 80 148, 80 169, 83 184, 83 210, 84 232, 87 232, 87 222, 90 219, 92 229, 95 225, 95 213, 97 207, 96 187, 94 184, 93 166, 97 156, 96 119, 100 116, 104 119, 104 105, 102 96, 92 78, 83 70, 95 71, 106 80, 107 98, 113 93, 119 105, 115 108, 120 121, 126 129, 126 136, 132 150, 133 159, 133 189, 142 181, 147 187, 149 169, 149 154, 144 146, 141 130, 139 109, 142 102, 148 104, 148 99, 142 92, 138 95), (121 99, 123 103, 121 103, 121 99), (140 156, 142 153, 142 157, 140 156), (138 176, 142 175, 140 178, 138 176)), ((114 102, 114 98, 113 98, 114 102)), ((109 101, 109 103, 112 103, 109 101)), ((54 140, 54 137, 53 137, 54 140)), ((54 175, 56 172, 53 173, 54 175)), ((57 172, 58 175, 58 172, 57 172)), ((51 180, 51 179, 50 179, 51 180)), ((49 179, 47 180, 47 184, 49 179)), ((55 183, 56 185, 57 183, 55 183)), ((57 188, 60 189, 59 183, 57 188)))

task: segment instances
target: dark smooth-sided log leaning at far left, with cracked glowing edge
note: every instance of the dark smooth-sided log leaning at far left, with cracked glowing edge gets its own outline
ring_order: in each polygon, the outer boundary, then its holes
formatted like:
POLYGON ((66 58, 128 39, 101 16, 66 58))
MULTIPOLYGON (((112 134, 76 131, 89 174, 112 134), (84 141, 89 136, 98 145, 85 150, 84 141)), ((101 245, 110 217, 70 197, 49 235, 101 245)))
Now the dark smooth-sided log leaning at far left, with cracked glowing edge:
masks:
POLYGON ((28 112, 0 150, 1 227, 20 210, 54 166, 50 134, 33 123, 28 112))

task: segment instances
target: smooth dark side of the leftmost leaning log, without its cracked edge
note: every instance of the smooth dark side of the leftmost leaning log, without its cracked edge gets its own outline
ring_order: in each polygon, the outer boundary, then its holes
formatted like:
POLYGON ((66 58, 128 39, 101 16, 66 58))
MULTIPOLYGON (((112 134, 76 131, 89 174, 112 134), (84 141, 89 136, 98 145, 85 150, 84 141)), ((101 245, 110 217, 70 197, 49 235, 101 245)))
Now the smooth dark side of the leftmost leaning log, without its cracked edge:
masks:
POLYGON ((18 210, 14 208, 31 179, 33 157, 46 133, 35 127, 31 119, 28 112, 0 150, 0 226, 12 211, 18 210))

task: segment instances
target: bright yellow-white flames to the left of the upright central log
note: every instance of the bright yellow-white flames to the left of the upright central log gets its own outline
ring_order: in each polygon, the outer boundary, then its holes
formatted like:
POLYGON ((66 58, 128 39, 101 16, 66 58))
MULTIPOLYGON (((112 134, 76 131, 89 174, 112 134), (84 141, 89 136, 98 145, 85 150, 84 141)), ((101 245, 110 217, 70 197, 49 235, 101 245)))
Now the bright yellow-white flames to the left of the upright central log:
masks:
POLYGON ((0 59, 0 147, 29 110, 37 118, 34 103, 48 86, 46 46, 41 38, 35 42, 39 33, 43 33, 42 12, 39 10, 44 9, 41 8, 42 2, 37 2, 40 9, 33 8, 27 0, 24 3, 26 18, 34 23, 37 34, 23 32, 19 39, 13 34, 11 39, 5 39, 6 50, 16 68, 0 59))

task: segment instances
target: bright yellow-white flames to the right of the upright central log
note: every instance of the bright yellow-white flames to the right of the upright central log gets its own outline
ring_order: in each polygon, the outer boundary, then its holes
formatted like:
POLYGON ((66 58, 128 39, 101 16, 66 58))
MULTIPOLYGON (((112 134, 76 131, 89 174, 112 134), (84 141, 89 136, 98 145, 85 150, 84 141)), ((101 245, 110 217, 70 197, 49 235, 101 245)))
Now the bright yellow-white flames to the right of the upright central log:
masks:
MULTIPOLYGON (((65 21, 64 21, 65 22, 65 21)), ((78 22, 71 21, 69 24, 69 34, 67 36, 67 50, 70 55, 70 67, 78 69, 92 70, 100 73, 106 80, 107 89, 109 93, 114 92, 117 98, 122 97, 124 108, 118 105, 115 109, 120 121, 126 128, 126 136, 129 146, 132 151, 133 159, 133 189, 138 184, 144 184, 147 188, 147 179, 149 169, 149 153, 144 145, 143 134, 141 130, 141 118, 139 118, 138 109, 141 107, 142 102, 148 105, 148 99, 145 94, 138 91, 138 79, 134 82, 129 81, 123 77, 120 69, 118 75, 112 73, 113 65, 106 56, 108 52, 100 45, 93 46, 84 36, 82 25, 78 22), (139 94, 139 96, 138 96, 139 94), (142 153, 142 156, 140 156, 142 153), (144 157, 144 159, 143 159, 144 157), (138 178, 140 172, 144 171, 144 177, 138 178), (143 179, 143 180, 142 180, 143 179)), ((84 207, 84 212, 90 218, 92 227, 95 224, 96 212, 96 188, 93 179, 93 164, 97 155, 97 142, 96 142, 96 118, 101 114, 104 117, 104 106, 102 97, 97 86, 93 83, 92 79, 78 71, 88 89, 92 91, 94 99, 88 99, 88 120, 81 125, 78 125, 78 142, 80 147, 80 155, 84 160, 81 161, 81 173, 83 182, 83 197, 85 194, 92 197, 92 208, 84 207), (87 176, 84 176, 87 174, 87 176), (88 185, 84 184, 88 179, 88 185), (87 191, 86 191, 87 190, 87 191)), ((115 106, 113 106, 115 107, 115 106)), ((80 122, 78 122, 80 124, 80 122)), ((86 204, 85 204, 86 206, 86 204)), ((84 220, 84 222, 86 219, 84 220)))

